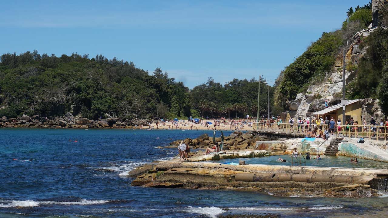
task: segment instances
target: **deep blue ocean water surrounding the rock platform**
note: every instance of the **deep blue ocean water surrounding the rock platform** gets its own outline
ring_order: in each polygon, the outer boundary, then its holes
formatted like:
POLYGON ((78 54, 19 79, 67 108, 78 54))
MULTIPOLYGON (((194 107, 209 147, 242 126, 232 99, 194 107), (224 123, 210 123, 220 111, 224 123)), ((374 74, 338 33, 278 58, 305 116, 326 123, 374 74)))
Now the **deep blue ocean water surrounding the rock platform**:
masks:
MULTIPOLYGON (((128 171, 167 160, 156 149, 207 130, 0 129, 0 217, 383 217, 388 197, 275 197, 258 192, 132 187, 128 171), (77 139, 78 142, 69 142, 77 139), (26 161, 31 159, 32 161, 26 161), (328 213, 329 212, 329 213, 328 213)), ((227 135, 225 133, 225 135, 227 135)))

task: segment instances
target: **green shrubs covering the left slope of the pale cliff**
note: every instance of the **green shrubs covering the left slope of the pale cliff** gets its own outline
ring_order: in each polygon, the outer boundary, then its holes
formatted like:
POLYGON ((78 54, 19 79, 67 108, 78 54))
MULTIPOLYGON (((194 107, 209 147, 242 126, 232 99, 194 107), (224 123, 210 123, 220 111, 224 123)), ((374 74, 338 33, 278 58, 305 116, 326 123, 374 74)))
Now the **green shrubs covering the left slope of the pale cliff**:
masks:
POLYGON ((307 90, 308 85, 319 82, 333 67, 335 55, 342 43, 341 31, 323 33, 319 40, 312 43, 282 71, 275 91, 275 104, 284 107, 286 100, 295 99, 298 93, 307 90))

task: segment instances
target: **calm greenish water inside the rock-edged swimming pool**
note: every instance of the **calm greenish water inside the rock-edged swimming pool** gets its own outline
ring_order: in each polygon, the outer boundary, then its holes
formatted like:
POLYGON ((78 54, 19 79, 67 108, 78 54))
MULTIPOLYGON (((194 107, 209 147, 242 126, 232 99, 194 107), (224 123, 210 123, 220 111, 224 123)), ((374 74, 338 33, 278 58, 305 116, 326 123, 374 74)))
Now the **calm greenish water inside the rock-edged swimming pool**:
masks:
MULTIPOLYGON (((321 160, 314 159, 316 155, 312 155, 310 160, 306 160, 306 166, 330 166, 330 167, 346 167, 346 168, 378 168, 378 169, 387 169, 388 163, 383 163, 379 161, 366 160, 366 159, 358 159, 358 163, 350 163, 351 157, 346 156, 325 156, 321 155, 321 160)), ((277 156, 268 156, 268 157, 253 157, 253 158, 236 158, 236 159, 223 159, 218 161, 213 161, 216 163, 226 163, 226 162, 234 162, 239 163, 239 161, 245 161, 246 164, 272 164, 272 165, 285 165, 291 166, 291 155, 277 155, 277 156), (286 159, 287 162, 277 161, 281 157, 282 159, 286 159)), ((299 165, 299 163, 295 163, 296 160, 293 158, 294 166, 299 165)), ((302 162, 304 162, 302 158, 302 162)), ((305 164, 301 164, 305 166, 305 164)))

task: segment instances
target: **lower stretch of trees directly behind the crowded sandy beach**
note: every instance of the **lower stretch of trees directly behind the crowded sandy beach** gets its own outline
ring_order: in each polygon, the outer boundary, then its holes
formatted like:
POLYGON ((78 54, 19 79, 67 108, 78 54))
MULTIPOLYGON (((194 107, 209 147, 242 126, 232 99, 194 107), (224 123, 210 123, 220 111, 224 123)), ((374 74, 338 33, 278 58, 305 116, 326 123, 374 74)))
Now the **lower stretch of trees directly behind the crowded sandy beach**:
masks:
MULTIPOLYGON (((260 86, 260 116, 266 116, 267 90, 270 95, 270 112, 277 114, 279 111, 273 107, 274 88, 265 82, 260 86), (268 87, 268 88, 267 88, 268 87)), ((243 117, 246 114, 257 116, 258 81, 234 79, 222 86, 209 78, 207 83, 196 86, 191 91, 192 104, 205 116, 243 117)))

